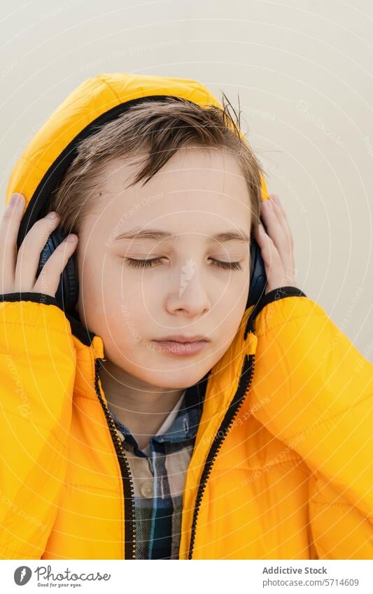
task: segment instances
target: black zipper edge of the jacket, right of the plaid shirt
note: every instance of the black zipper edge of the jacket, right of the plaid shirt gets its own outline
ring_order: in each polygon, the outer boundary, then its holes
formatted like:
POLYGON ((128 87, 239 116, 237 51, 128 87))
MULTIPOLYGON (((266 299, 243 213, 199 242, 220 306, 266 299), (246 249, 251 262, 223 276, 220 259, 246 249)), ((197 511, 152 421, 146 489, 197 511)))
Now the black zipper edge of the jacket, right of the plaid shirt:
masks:
POLYGON ((230 427, 234 421, 234 418, 237 416, 239 409, 241 408, 242 404, 246 396, 248 395, 248 391, 250 390, 251 380, 253 379, 254 373, 254 365, 255 365, 255 354, 246 355, 244 369, 241 373, 239 387, 237 388, 237 392, 232 399, 232 402, 225 413, 225 417, 223 418, 222 422, 220 423, 220 427, 216 436, 213 439, 213 444, 211 445, 209 454, 207 455, 206 462, 204 463, 204 469, 202 471, 201 479, 199 480, 199 486, 197 489, 197 497, 195 501, 195 510, 193 513, 193 520, 192 520, 192 529, 190 535, 190 547, 189 547, 189 554, 188 559, 192 559, 193 556, 193 549, 195 546, 195 533, 197 527, 197 518, 199 507, 201 507, 202 497, 204 495, 204 490, 206 488, 206 483, 209 479, 209 475, 211 473, 211 469, 213 467, 213 462, 215 462, 216 457, 218 455, 218 451, 223 444, 223 441, 227 435, 227 432, 230 430, 230 427))

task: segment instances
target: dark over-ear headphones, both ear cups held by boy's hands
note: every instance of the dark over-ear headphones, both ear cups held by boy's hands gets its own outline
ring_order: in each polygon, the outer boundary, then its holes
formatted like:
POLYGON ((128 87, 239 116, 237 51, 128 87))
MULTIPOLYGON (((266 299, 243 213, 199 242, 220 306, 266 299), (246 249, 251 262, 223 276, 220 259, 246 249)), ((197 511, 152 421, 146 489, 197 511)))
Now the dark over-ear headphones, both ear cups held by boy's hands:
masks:
MULTIPOLYGON (((262 222, 262 225, 265 227, 262 218, 260 218, 260 222, 262 222)), ((57 246, 59 246, 59 243, 64 241, 66 235, 67 233, 62 231, 62 227, 57 227, 57 229, 50 234, 47 243, 45 243, 45 246, 41 251, 36 278, 38 278, 45 262, 55 251, 57 246)), ((265 295, 265 287, 267 285, 267 276, 265 274, 265 265, 262 259, 262 254, 260 252, 260 247, 253 236, 251 236, 250 259, 250 288, 246 309, 249 306, 258 303, 259 299, 265 295)), ((67 313, 74 313, 74 307, 78 302, 78 295, 78 266, 76 262, 76 250, 74 250, 59 278, 56 299, 59 304, 62 305, 64 311, 67 313)))

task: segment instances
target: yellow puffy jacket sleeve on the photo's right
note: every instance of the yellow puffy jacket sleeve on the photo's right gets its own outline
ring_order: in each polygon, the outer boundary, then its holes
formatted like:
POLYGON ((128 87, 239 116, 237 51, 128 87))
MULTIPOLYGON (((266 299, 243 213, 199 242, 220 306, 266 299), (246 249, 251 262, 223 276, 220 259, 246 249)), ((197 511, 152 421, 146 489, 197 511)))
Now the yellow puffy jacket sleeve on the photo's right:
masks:
POLYGON ((373 365, 321 306, 275 295, 254 322, 253 414, 309 468, 318 558, 372 559, 373 365))

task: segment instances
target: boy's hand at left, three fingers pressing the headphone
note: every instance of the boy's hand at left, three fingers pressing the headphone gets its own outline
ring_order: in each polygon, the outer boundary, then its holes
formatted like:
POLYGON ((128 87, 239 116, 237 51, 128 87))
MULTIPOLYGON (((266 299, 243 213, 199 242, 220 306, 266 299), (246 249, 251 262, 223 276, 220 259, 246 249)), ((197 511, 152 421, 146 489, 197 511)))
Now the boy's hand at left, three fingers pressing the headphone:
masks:
POLYGON ((48 258, 36 278, 41 251, 48 236, 57 228, 59 215, 55 213, 56 217, 50 218, 48 213, 37 220, 24 237, 16 255, 15 246, 24 205, 24 196, 13 194, 0 222, 0 291, 2 294, 35 292, 55 297, 62 271, 78 245, 78 236, 69 234, 48 258), (12 199, 17 197, 13 202, 12 199), (71 241, 68 241, 70 238, 71 241))

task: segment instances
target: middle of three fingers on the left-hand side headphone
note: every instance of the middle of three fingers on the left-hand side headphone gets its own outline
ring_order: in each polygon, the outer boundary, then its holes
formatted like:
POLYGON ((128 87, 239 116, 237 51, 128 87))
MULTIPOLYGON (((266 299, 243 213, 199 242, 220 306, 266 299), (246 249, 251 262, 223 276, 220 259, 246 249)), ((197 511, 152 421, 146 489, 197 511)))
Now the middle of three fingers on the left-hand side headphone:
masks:
POLYGON ((59 215, 55 214, 55 218, 49 216, 52 213, 48 213, 37 220, 21 243, 15 266, 15 286, 18 291, 30 291, 34 287, 41 251, 59 223, 59 215))

